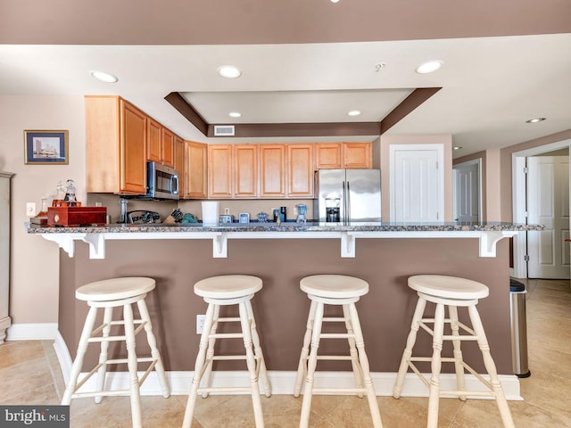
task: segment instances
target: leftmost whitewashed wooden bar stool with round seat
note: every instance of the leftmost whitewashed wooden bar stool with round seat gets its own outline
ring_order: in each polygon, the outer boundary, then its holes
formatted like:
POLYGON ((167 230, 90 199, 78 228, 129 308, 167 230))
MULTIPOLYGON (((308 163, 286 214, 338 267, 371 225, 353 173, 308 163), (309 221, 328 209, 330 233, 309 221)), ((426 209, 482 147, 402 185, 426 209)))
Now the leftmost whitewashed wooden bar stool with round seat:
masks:
POLYGON ((103 396, 129 395, 131 399, 131 417, 133 426, 142 426, 140 386, 154 369, 159 383, 161 384, 162 396, 166 399, 170 396, 170 388, 167 383, 161 354, 157 349, 153 335, 151 318, 146 308, 145 297, 148 292, 154 290, 155 281, 145 277, 113 278, 95 283, 83 285, 75 292, 78 300, 87 301, 89 312, 83 331, 79 338, 78 353, 71 366, 70 381, 63 394, 62 405, 69 405, 71 399, 83 397, 95 397, 95 403, 100 403, 103 396), (133 304, 137 303, 140 319, 133 317, 133 304), (113 320, 113 308, 122 307, 123 318, 113 320), (103 324, 94 329, 95 318, 98 309, 103 309, 103 324), (114 325, 123 327, 123 334, 111 335, 114 325), (137 325, 137 328, 135 328, 137 325), (135 352, 135 336, 145 330, 146 340, 151 348, 151 357, 137 357, 135 352), (107 359, 109 342, 125 342, 128 358, 107 359), (79 372, 83 366, 83 359, 87 351, 87 345, 92 342, 101 343, 99 363, 78 383, 79 372), (129 373, 128 390, 104 391, 105 374, 110 364, 127 363, 129 373), (137 374, 138 363, 150 363, 145 374, 139 379, 137 374), (80 391, 79 388, 93 375, 97 374, 95 391, 80 391))

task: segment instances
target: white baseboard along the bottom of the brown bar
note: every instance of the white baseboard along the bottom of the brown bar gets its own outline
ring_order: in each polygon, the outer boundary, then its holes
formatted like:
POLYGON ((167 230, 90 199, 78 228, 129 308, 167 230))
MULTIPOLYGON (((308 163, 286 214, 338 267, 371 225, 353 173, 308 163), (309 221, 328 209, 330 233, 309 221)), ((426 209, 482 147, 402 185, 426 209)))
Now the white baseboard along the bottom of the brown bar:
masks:
MULTIPOLYGON (((59 358, 60 365, 62 366, 62 373, 65 382, 67 383, 71 371, 71 358, 70 352, 67 349, 61 334, 58 332, 54 342, 54 348, 57 357, 59 358)), ((170 384, 170 393, 172 395, 187 395, 190 389, 194 372, 167 372, 167 380, 170 384)), ((80 374, 81 377, 86 373, 80 374)), ((142 375, 143 373, 140 373, 142 375)), ((272 394, 294 394, 295 372, 286 371, 273 371, 268 372, 269 382, 271 383, 272 394)), ((426 374, 428 376, 428 374, 426 374)), ((396 381, 396 373, 371 373, 373 384, 378 397, 392 397, 393 385, 396 381)), ((487 376, 484 374, 484 378, 487 376)), ((246 371, 219 371, 212 373, 211 386, 248 386, 250 383, 250 376, 246 371)), ((509 400, 523 400, 519 392, 519 380, 514 374, 500 374, 501 387, 503 388, 506 398, 509 400)), ((440 376, 441 387, 443 390, 456 389, 456 375, 455 374, 441 374, 440 376)), ((352 372, 316 372, 315 386, 322 387, 339 387, 339 388, 352 388, 354 387, 354 377, 352 372)), ((129 377, 128 372, 111 372, 107 374, 105 381, 105 388, 128 390, 129 377)), ((473 374, 466 374, 466 387, 468 391, 486 391, 484 385, 476 379, 473 374)), ((95 376, 87 381, 82 387, 81 391, 94 391, 95 390, 95 376)), ((263 390, 261 389, 263 392, 263 390)), ((246 393, 246 392, 244 392, 246 393)), ((161 386, 157 379, 156 373, 149 374, 145 383, 141 386, 141 395, 161 395, 161 386)), ((402 397, 428 397, 428 389, 425 384, 414 373, 406 375, 405 382, 402 388, 402 397)), ((485 399, 482 396, 470 396, 470 399, 485 399)))

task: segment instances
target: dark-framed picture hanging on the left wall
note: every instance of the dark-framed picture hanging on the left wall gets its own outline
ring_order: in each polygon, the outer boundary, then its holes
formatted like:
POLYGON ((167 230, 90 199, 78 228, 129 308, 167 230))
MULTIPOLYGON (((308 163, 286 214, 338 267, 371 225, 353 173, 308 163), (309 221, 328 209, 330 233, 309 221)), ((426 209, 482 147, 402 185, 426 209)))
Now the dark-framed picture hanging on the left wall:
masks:
POLYGON ((67 165, 68 131, 24 131, 24 158, 27 165, 67 165))

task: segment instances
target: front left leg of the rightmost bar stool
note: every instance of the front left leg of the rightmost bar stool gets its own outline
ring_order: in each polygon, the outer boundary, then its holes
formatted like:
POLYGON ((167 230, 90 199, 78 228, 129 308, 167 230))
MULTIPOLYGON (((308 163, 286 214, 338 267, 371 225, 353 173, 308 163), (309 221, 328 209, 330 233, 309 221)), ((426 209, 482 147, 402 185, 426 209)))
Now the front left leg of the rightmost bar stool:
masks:
POLYGON ((434 336, 433 336, 433 354, 430 369, 432 375, 430 377, 430 388, 428 392, 428 421, 426 428, 438 427, 438 404, 440 401, 440 370, 442 368, 442 351, 443 351, 443 333, 444 333, 444 305, 437 303, 434 311, 434 336))

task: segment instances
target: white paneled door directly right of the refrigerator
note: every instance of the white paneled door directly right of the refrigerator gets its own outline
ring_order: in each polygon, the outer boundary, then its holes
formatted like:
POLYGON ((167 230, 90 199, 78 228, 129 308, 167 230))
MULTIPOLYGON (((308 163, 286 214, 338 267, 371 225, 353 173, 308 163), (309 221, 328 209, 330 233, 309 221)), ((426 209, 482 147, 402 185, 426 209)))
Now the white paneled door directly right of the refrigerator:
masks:
POLYGON ((443 221, 441 144, 391 146, 391 221, 443 221))

